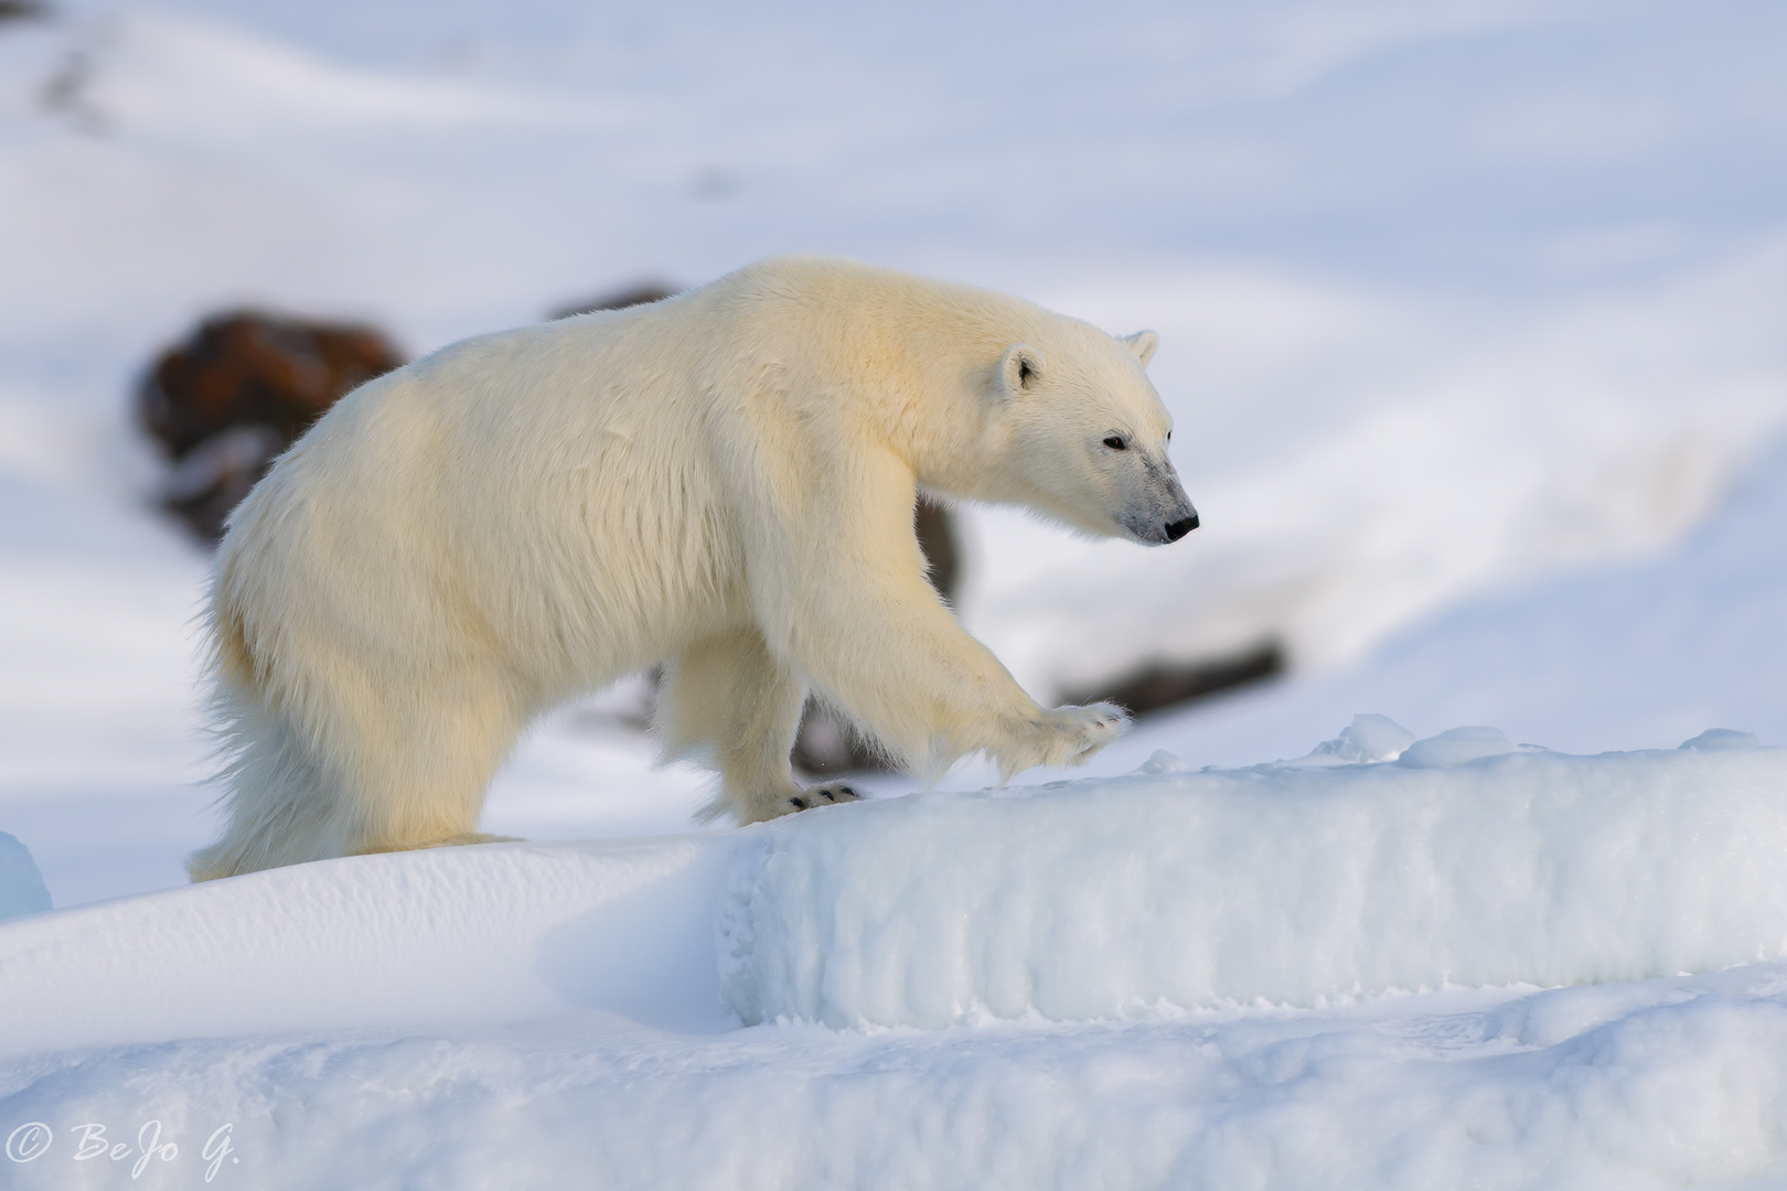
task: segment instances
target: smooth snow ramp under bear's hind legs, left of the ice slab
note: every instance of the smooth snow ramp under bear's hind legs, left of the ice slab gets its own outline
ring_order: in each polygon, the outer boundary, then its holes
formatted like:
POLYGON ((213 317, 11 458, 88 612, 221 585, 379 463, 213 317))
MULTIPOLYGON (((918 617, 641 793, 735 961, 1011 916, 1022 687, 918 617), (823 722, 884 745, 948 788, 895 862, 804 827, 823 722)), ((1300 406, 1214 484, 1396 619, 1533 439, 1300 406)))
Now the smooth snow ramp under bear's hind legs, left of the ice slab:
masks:
POLYGON ((0 927, 0 1054, 597 1009, 720 1029, 729 836, 347 857, 0 927))

